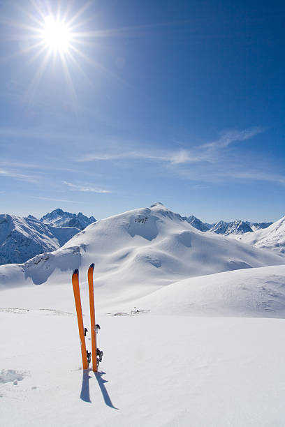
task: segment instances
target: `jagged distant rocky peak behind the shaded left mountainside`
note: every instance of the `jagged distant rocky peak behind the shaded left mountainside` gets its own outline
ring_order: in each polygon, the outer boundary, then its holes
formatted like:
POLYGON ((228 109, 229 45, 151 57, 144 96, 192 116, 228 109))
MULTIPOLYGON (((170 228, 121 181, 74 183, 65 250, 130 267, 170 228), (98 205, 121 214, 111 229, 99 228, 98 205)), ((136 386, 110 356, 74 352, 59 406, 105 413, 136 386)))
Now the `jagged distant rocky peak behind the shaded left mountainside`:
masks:
POLYGON ((54 211, 44 215, 40 221, 54 227, 77 227, 80 230, 84 230, 87 225, 94 223, 96 219, 94 216, 88 218, 82 212, 76 214, 64 212, 62 209, 54 209, 54 211))

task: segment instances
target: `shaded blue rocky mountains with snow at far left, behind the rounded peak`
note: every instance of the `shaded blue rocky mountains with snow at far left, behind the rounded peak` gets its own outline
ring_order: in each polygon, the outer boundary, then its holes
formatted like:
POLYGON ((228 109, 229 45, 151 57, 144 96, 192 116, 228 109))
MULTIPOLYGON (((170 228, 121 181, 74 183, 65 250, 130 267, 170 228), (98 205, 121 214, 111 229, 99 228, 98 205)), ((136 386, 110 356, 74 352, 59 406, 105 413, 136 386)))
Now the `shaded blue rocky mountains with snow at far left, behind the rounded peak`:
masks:
POLYGON ((44 252, 63 246, 66 241, 93 223, 95 218, 81 212, 69 213, 61 209, 47 213, 38 220, 0 215, 0 265, 26 262, 44 252))

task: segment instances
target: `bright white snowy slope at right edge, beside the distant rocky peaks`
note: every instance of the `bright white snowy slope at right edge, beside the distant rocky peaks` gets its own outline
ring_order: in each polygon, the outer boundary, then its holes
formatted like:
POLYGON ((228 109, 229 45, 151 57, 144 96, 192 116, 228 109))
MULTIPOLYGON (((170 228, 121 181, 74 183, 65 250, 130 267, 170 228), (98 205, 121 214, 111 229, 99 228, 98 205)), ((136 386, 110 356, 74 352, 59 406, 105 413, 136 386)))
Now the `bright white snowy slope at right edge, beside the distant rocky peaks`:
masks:
POLYGON ((256 248, 275 250, 280 255, 285 254, 285 216, 268 228, 256 230, 239 237, 240 241, 256 248))

